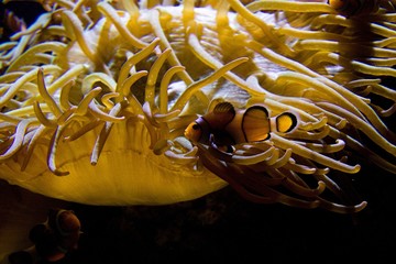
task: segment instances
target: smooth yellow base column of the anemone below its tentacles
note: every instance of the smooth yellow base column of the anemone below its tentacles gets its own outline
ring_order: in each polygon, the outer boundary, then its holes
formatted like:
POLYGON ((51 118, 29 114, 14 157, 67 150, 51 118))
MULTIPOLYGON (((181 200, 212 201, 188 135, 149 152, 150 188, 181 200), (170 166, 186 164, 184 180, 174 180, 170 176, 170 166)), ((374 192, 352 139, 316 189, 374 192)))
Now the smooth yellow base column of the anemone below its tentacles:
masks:
POLYGON ((150 150, 146 129, 139 122, 113 127, 100 160, 90 164, 94 130, 76 141, 59 143, 55 176, 47 167, 46 145, 37 145, 24 172, 19 161, 1 164, 1 177, 35 193, 88 205, 163 205, 201 197, 226 185, 208 170, 191 174, 150 150), (16 180, 15 180, 16 179, 16 180), (82 184, 86 183, 86 184, 82 184))

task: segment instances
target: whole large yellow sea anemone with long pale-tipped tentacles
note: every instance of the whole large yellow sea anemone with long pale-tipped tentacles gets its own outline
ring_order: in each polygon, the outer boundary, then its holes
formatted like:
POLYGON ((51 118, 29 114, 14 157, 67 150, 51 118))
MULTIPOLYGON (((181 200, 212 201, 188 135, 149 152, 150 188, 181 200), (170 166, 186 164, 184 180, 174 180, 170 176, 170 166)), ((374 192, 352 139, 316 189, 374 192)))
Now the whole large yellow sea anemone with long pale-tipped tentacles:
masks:
POLYGON ((358 155, 396 172, 384 121, 396 96, 381 82, 396 76, 386 9, 362 23, 320 2, 45 4, 0 46, 0 177, 11 184, 84 204, 152 205, 229 183, 256 202, 355 212, 365 202, 342 200, 331 174, 358 173, 348 161, 358 155), (186 140, 197 114, 222 100, 296 112, 298 127, 233 153, 186 140))

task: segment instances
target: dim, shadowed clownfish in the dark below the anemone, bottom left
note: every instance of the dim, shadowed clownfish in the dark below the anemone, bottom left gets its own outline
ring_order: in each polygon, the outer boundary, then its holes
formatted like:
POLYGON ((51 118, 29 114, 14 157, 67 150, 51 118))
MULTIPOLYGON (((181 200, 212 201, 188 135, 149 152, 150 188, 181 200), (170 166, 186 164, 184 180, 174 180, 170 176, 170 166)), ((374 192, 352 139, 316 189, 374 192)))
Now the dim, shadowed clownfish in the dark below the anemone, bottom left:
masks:
POLYGON ((56 262, 64 258, 67 252, 77 249, 80 227, 80 221, 73 211, 51 209, 47 221, 36 224, 30 232, 30 239, 40 257, 56 262))

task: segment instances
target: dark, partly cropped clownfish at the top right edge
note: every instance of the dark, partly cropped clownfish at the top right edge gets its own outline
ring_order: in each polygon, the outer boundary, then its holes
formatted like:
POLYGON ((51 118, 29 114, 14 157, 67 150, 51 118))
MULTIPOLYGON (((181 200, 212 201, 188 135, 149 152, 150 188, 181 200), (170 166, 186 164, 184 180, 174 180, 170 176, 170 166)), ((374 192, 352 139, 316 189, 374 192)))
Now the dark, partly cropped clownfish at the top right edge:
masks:
POLYGON ((345 16, 374 13, 383 4, 388 10, 395 10, 394 0, 328 0, 330 7, 345 16))

